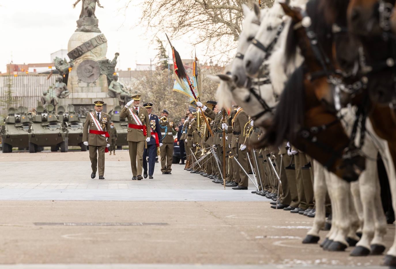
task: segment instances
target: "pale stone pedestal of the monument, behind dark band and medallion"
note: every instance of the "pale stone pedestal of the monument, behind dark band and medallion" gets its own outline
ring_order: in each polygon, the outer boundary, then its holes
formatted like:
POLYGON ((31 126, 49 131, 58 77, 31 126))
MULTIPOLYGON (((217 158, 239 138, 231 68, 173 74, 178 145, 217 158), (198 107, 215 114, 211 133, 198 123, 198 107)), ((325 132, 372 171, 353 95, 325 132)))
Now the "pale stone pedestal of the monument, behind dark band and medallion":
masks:
MULTIPOLYGON (((69 40, 68 51, 72 51, 88 40, 95 38, 97 35, 97 32, 74 32, 69 40)), ((86 83, 80 80, 77 74, 78 66, 83 61, 93 60, 97 62, 105 60, 106 53, 107 42, 94 47, 73 61, 74 66, 69 73, 69 79, 67 82, 67 88, 70 91, 70 95, 65 99, 59 99, 60 106, 66 108, 67 105, 74 104, 76 108, 86 106, 87 110, 92 111, 90 108, 93 107, 93 102, 102 100, 106 104, 105 109, 110 111, 114 106, 118 105, 118 100, 116 98, 111 98, 107 94, 109 91, 109 85, 107 84, 106 75, 101 74, 96 81, 86 83)))

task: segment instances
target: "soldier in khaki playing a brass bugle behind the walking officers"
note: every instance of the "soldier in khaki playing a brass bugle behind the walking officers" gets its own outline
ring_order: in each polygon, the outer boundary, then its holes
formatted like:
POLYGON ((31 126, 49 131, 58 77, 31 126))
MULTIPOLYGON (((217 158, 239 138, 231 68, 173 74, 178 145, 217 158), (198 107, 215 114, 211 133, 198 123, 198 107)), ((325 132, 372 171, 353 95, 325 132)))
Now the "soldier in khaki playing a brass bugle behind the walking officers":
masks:
POLYGON ((160 129, 162 135, 162 146, 160 147, 161 154, 161 171, 162 174, 172 174, 171 166, 173 161, 173 134, 172 130, 179 131, 173 119, 168 117, 168 110, 161 111, 160 129))

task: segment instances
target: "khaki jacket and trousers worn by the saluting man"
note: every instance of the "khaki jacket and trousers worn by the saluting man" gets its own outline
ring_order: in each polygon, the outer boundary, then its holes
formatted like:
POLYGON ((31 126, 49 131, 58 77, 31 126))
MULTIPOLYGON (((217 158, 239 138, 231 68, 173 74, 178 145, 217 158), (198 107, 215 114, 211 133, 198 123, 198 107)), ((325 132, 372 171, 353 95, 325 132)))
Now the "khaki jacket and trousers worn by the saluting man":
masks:
MULTIPOLYGON (((135 113, 135 107, 131 107, 133 113, 135 113)), ((141 120, 143 125, 146 125, 147 128, 147 137, 151 137, 150 133, 150 119, 148 119, 147 109, 143 107, 139 107, 139 113, 137 117, 141 120)), ((127 118, 129 124, 138 125, 133 116, 131 115, 130 110, 124 106, 120 112, 120 118, 127 118)), ((131 169, 133 176, 138 176, 142 174, 143 170, 143 150, 145 148, 146 136, 143 135, 142 129, 134 129, 128 127, 127 141, 129 146, 129 158, 131 160, 131 169)))

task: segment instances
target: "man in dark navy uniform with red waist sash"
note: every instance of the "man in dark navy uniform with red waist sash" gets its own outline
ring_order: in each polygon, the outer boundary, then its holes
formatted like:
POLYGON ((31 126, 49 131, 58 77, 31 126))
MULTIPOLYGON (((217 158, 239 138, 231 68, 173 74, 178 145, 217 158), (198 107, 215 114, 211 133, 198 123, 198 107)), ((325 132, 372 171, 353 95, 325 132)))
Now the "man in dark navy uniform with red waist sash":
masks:
POLYGON ((150 131, 151 131, 151 139, 150 142, 147 142, 147 148, 145 148, 143 152, 143 176, 144 178, 153 178, 154 174, 154 165, 155 165, 155 156, 157 155, 157 148, 162 146, 162 135, 160 130, 160 123, 158 121, 158 116, 151 114, 152 112, 152 103, 143 104, 143 106, 147 109, 148 119, 150 120, 150 131), (147 174, 147 156, 148 156, 148 174, 147 174))

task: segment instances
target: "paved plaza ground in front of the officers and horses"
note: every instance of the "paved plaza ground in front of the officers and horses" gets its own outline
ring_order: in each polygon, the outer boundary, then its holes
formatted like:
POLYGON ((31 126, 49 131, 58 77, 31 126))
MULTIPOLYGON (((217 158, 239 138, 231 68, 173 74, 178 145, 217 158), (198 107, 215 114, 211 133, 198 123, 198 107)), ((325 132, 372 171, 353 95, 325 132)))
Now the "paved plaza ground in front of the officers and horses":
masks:
MULTIPOLYGON (((313 219, 273 210, 173 165, 131 180, 127 150, 90 178, 88 152, 0 153, 0 269, 346 268, 383 256, 324 252, 301 240, 313 219)), ((321 241, 326 236, 321 231, 321 241)), ((394 226, 388 225, 387 249, 394 226)))

